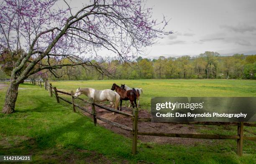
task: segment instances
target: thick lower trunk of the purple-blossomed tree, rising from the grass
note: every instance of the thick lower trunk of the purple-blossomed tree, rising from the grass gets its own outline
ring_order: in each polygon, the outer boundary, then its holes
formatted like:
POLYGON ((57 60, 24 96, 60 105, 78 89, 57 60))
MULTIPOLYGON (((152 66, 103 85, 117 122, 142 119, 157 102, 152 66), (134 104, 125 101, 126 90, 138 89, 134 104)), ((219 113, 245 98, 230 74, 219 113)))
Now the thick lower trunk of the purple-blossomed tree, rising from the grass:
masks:
POLYGON ((11 114, 14 112, 15 102, 18 96, 18 84, 14 84, 13 80, 11 80, 8 90, 5 96, 5 104, 3 106, 2 113, 11 114))

